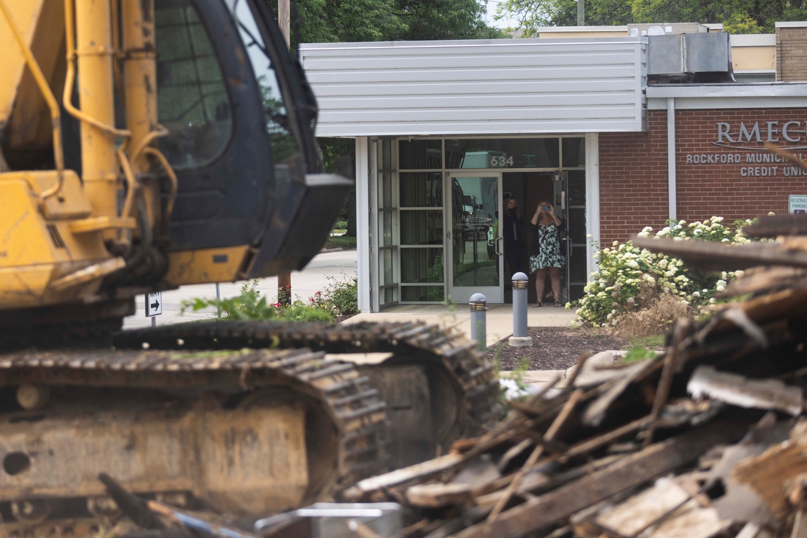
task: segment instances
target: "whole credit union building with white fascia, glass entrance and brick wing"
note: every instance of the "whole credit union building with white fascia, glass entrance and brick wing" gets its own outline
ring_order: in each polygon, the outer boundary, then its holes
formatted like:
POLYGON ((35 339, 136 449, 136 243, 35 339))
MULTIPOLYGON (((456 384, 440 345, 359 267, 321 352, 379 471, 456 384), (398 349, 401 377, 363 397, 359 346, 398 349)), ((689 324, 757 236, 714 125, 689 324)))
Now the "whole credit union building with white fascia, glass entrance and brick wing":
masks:
POLYGON ((598 242, 667 219, 781 213, 807 195, 807 171, 764 148, 807 153, 807 23, 742 39, 697 24, 574 30, 303 44, 317 136, 355 139, 362 311, 475 292, 509 302, 545 203, 564 224, 561 293, 575 299, 598 242))

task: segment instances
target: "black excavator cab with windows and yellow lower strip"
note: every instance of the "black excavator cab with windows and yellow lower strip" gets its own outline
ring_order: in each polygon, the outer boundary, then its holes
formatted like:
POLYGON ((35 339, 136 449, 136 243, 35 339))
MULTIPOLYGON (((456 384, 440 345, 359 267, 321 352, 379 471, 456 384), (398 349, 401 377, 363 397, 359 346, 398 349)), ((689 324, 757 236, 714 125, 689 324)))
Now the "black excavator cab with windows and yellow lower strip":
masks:
POLYGON ((317 173, 316 102, 269 7, 157 0, 154 19, 158 147, 179 183, 169 256, 192 260, 166 280, 302 269, 349 181, 317 173))

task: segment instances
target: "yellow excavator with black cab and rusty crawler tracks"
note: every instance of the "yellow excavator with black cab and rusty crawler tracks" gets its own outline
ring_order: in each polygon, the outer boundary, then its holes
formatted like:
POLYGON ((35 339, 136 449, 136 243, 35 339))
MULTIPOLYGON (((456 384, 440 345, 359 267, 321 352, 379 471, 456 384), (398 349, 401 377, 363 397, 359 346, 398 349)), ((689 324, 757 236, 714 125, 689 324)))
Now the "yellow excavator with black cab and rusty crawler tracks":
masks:
POLYGON ((134 298, 302 269, 351 182, 264 0, 0 0, 0 535, 121 516, 98 473, 266 515, 495 418, 424 323, 121 331, 134 298))

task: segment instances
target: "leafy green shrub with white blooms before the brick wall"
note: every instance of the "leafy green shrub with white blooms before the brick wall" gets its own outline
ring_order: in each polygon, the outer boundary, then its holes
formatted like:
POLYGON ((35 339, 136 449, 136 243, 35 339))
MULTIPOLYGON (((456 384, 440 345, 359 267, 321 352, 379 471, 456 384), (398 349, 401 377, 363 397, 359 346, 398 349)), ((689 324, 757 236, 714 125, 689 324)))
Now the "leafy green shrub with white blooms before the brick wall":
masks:
MULTIPOLYGON (((687 223, 667 221, 667 226, 654 232, 645 227, 638 236, 668 237, 679 241, 716 241, 742 244, 752 241, 741 228, 751 220, 724 224, 722 217, 687 223)), ((592 281, 584 288, 586 295, 577 302, 579 322, 594 327, 617 326, 621 316, 650 307, 662 294, 669 294, 692 312, 716 302, 713 294, 725 290, 728 282, 742 275, 729 273, 695 273, 674 256, 654 254, 649 250, 614 241, 594 254, 600 269, 592 273, 592 281)))

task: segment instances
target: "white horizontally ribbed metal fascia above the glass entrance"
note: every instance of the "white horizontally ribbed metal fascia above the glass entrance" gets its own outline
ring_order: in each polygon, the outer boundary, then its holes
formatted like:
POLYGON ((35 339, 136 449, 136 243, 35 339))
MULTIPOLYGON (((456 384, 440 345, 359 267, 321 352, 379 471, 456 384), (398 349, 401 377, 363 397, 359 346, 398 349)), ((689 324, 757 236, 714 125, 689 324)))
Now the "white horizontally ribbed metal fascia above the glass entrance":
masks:
POLYGON ((646 38, 303 44, 317 136, 642 131, 646 38))

